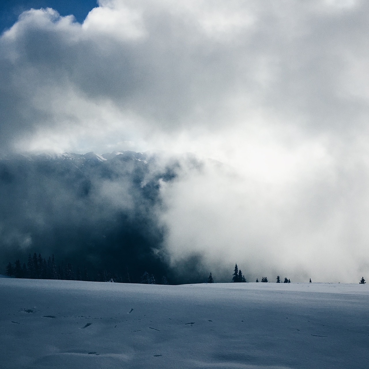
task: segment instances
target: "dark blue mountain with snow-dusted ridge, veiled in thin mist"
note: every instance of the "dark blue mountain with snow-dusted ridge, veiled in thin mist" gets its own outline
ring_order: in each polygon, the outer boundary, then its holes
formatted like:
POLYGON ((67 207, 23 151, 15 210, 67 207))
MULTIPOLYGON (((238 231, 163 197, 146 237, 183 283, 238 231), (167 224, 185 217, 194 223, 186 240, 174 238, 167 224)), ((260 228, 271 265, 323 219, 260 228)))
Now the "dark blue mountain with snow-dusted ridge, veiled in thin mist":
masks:
POLYGON ((159 189, 178 168, 176 159, 161 165, 157 156, 132 151, 1 159, 1 269, 37 252, 90 272, 128 270, 133 282, 146 270, 170 283, 202 281, 196 255, 177 269, 163 247, 159 189))

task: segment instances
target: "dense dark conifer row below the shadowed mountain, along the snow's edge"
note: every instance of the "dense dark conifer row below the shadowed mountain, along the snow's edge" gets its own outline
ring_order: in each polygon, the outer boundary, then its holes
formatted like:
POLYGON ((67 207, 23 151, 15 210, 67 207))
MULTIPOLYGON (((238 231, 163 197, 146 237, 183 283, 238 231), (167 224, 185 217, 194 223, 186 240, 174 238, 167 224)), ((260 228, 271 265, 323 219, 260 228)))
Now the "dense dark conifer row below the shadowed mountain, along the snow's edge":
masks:
MULTIPOLYGON (((131 280, 130 274, 125 275, 116 272, 110 272, 106 269, 97 270, 94 273, 88 273, 85 267, 83 271, 78 267, 73 268, 69 262, 62 261, 56 264, 54 254, 46 258, 42 258, 41 254, 34 252, 33 256, 28 255, 27 263, 21 263, 17 259, 14 264, 11 262, 6 266, 6 275, 15 278, 29 278, 29 279, 60 279, 60 280, 83 280, 92 282, 117 282, 117 283, 134 283, 131 280)), ((140 283, 146 284, 169 284, 165 276, 162 277, 161 283, 156 283, 153 274, 149 275, 145 272, 141 277, 140 283)))

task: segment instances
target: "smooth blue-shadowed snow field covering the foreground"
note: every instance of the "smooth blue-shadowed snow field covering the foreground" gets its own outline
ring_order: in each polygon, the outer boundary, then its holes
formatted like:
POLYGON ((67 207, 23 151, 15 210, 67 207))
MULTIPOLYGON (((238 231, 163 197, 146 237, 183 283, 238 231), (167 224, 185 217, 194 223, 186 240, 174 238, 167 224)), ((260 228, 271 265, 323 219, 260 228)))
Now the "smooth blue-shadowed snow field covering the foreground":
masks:
POLYGON ((368 368, 367 284, 0 279, 1 368, 368 368))

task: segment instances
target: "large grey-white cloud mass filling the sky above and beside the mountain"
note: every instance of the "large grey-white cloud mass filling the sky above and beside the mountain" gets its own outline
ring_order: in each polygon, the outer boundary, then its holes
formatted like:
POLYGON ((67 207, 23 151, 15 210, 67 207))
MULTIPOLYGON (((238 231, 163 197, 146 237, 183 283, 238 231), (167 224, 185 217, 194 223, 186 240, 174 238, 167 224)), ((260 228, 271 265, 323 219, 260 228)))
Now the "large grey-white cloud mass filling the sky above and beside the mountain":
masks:
POLYGON ((356 282, 368 7, 100 1, 82 24, 27 11, 0 40, 1 148, 193 152, 203 166, 161 187, 173 263, 356 282))

